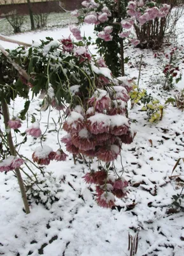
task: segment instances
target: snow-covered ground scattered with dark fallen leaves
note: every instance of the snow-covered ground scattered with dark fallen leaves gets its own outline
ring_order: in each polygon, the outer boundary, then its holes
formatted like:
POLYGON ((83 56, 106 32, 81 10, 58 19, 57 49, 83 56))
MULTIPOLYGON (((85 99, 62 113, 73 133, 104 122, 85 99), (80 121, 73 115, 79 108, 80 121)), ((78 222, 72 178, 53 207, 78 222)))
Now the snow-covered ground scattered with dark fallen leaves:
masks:
MULTIPOLYGON (((183 20, 180 21, 180 28, 183 20)), ((92 26, 83 26, 85 36, 93 36, 92 26)), ((68 28, 26 33, 11 36, 17 40, 31 43, 50 36, 54 39, 69 36, 68 28)), ((181 42, 180 42, 181 43, 181 42)), ((12 49, 15 44, 2 42, 5 48, 12 49)), ((95 51, 94 46, 91 49, 95 51)), ((152 92, 162 103, 174 94, 160 90, 161 85, 153 83, 162 73, 153 58, 153 52, 140 51, 128 47, 127 56, 131 57, 134 67, 126 66, 130 77, 138 77, 140 54, 143 52, 145 63, 141 70, 140 87, 152 92)), ((177 85, 184 88, 184 79, 177 85)), ((29 114, 39 119, 41 99, 31 102, 29 114)), ((24 108, 24 102, 17 99, 15 114, 24 108)), ((145 112, 139 106, 129 110, 132 128, 137 132, 131 145, 122 149, 124 177, 129 180, 127 199, 116 202, 115 209, 103 209, 97 206, 94 187, 85 184, 82 179, 88 168, 84 163, 74 165, 72 156, 60 164, 53 162, 46 168, 53 172, 56 180, 53 186, 60 185, 57 198, 50 209, 31 203, 31 213, 22 211, 22 198, 18 190, 17 179, 12 172, 0 175, 0 255, 4 256, 124 256, 129 255, 128 234, 134 236, 139 231, 138 256, 182 256, 184 255, 184 219, 183 212, 168 214, 171 208, 171 196, 180 193, 177 181, 169 179, 173 166, 179 157, 184 157, 183 113, 171 104, 164 110, 162 121, 150 124, 145 112)), ((13 110, 10 109, 10 115, 13 110)), ((44 131, 48 113, 42 113, 41 129, 44 131)), ((57 133, 53 120, 57 122, 58 113, 52 110, 49 130, 46 133, 47 145, 57 150, 57 133)), ((1 120, 1 125, 3 127, 1 120)), ((20 128, 25 131, 25 124, 20 128)), ((62 137, 64 131, 60 131, 62 137)), ((31 158, 39 142, 31 138, 22 145, 20 153, 31 158)), ((64 145, 62 147, 65 150, 64 145)), ((120 157, 116 161, 117 170, 122 171, 120 157)), ((96 161, 93 163, 96 167, 96 161)), ((181 163, 173 175, 184 177, 181 163), (183 176, 182 176, 183 175, 183 176)), ((34 166, 32 166, 34 168, 34 166)), ((184 179, 183 179, 184 180, 184 179)), ((180 181, 180 180, 179 180, 180 181)), ((179 182, 178 181, 178 182, 179 182)))

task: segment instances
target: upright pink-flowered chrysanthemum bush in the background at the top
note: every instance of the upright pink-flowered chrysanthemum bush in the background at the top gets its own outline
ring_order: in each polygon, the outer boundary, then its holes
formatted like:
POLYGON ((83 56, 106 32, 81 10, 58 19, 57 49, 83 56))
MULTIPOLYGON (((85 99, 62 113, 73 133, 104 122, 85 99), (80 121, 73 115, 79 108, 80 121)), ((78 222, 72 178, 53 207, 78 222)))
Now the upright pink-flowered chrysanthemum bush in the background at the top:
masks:
MULTIPOLYGON (((80 23, 94 24, 98 52, 115 76, 125 74, 124 40, 138 45, 145 33, 142 26, 146 28, 153 20, 164 19, 170 10, 168 4, 158 1, 87 0, 81 4, 82 11, 76 10, 73 15, 80 23), (132 36, 134 28, 138 38, 132 36)), ((152 40, 151 36, 148 39, 152 40)))

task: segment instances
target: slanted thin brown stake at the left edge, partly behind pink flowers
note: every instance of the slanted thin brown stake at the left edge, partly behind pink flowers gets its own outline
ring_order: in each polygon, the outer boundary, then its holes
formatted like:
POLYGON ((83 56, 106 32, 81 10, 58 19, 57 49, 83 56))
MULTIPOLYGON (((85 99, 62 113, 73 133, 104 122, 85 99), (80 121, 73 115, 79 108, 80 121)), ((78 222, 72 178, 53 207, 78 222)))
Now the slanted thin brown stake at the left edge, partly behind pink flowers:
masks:
MULTIPOLYGON (((4 99, 1 100, 1 106, 2 106, 2 111, 3 111, 5 129, 7 129, 8 121, 10 120, 10 116, 9 116, 8 105, 6 104, 6 100, 4 100, 4 99)), ((8 146, 10 148, 11 155, 16 156, 16 151, 15 151, 15 147, 13 145, 11 131, 7 132, 7 141, 8 141, 8 146)), ((27 196, 26 196, 26 193, 25 193, 24 182, 22 180, 20 170, 17 168, 17 169, 15 169, 15 172, 16 172, 16 175, 17 175, 18 184, 19 184, 19 187, 20 187, 21 195, 22 195, 22 200, 24 202, 25 212, 28 214, 30 212, 30 209, 29 209, 29 204, 27 202, 27 196)))

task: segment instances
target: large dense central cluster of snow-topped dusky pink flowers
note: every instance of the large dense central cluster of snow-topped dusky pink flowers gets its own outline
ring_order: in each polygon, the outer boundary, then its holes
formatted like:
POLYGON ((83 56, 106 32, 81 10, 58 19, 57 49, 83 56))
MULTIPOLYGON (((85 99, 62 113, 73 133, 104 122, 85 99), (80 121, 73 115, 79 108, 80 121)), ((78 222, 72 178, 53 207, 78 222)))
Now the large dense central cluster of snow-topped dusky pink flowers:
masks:
POLYGON ((96 156, 108 163, 117 159, 122 141, 132 142, 134 136, 125 116, 129 95, 123 85, 110 87, 108 91, 97 89, 88 99, 85 113, 77 110, 80 108, 71 111, 63 125, 68 134, 62 138, 68 152, 96 156))

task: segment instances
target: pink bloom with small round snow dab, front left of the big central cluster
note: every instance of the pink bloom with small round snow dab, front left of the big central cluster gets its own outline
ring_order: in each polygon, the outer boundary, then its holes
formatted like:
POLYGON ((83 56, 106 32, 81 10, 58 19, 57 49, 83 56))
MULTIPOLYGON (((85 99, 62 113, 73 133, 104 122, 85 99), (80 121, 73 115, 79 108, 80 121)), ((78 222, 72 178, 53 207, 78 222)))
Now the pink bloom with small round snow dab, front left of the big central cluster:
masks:
POLYGON ((78 134, 73 135, 72 143, 75 147, 84 151, 91 150, 95 147, 94 138, 92 138, 92 135, 90 134, 90 132, 87 131, 86 128, 81 129, 78 134))

